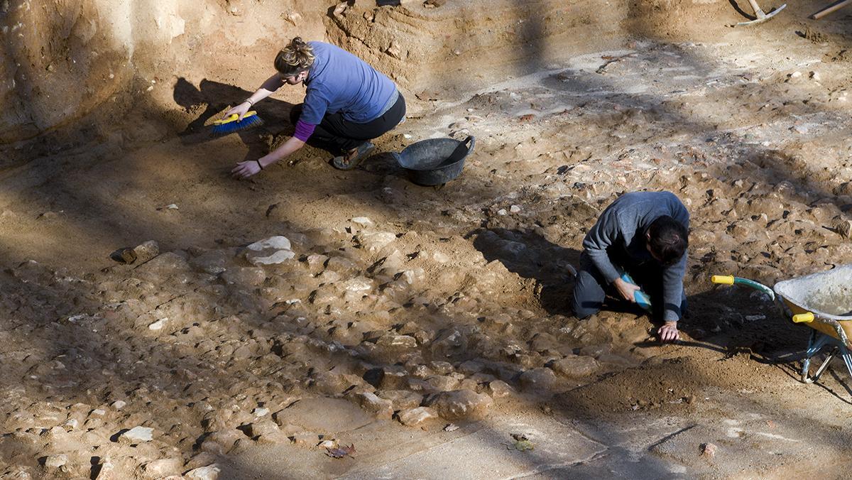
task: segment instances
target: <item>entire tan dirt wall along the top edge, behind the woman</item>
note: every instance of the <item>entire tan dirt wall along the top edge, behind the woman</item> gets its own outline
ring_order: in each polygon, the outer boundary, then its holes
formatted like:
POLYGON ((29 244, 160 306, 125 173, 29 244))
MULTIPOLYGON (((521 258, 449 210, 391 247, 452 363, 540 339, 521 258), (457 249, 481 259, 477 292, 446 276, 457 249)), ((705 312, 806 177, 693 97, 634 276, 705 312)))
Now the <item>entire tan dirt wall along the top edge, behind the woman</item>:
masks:
MULTIPOLYGON (((80 119, 95 130, 112 128, 139 105, 171 116, 170 127, 181 129, 195 118, 176 98, 178 86, 202 90, 209 80, 231 88, 193 101, 210 104, 221 92, 236 99, 268 77, 274 53, 296 35, 365 58, 400 84, 416 110, 411 94, 453 98, 567 56, 618 48, 634 35, 671 37, 682 32, 678 18, 730 10, 722 3, 2 0, 0 145, 80 119)), ((282 93, 286 101, 300 95, 282 93)))

